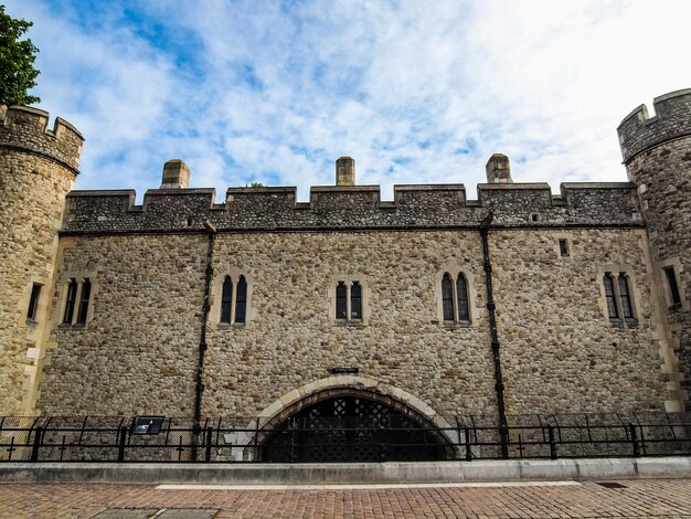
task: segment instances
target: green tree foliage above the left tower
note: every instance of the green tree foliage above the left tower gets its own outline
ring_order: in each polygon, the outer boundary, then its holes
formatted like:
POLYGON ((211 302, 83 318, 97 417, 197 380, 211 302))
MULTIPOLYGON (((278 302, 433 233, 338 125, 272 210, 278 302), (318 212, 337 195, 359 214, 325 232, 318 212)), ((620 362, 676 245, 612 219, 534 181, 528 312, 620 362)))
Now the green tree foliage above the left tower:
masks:
POLYGON ((39 50, 31 40, 20 40, 33 25, 26 20, 15 20, 0 6, 0 105, 30 105, 39 103, 36 96, 26 94, 36 86, 39 71, 33 67, 39 50))

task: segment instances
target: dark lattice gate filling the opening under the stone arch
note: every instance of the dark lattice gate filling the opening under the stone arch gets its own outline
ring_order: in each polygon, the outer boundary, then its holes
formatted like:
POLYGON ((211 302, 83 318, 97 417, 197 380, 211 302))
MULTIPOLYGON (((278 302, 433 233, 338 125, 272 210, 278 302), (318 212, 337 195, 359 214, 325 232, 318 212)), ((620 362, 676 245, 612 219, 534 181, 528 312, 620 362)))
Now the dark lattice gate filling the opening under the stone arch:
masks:
POLYGON ((262 459, 276 463, 444 458, 439 432, 360 396, 333 398, 300 410, 280 423, 262 448, 262 459))

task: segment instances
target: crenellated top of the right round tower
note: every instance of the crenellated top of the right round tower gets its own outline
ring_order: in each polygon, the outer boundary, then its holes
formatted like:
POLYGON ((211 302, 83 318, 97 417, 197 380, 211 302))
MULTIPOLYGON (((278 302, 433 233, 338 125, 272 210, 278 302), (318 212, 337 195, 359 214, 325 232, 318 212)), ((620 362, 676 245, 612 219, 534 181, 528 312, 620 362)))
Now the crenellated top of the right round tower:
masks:
POLYGON ((652 105, 652 117, 640 105, 617 128, 625 163, 646 149, 691 135, 691 88, 656 97, 652 105))

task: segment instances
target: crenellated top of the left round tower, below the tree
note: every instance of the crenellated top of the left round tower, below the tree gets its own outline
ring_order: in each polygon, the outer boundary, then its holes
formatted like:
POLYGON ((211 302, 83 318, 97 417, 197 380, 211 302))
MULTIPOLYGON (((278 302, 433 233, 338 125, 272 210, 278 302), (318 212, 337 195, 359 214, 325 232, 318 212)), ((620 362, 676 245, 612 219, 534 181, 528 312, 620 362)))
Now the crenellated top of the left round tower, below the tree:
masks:
POLYGON ((0 106, 0 148, 47 157, 77 174, 84 137, 60 117, 49 128, 49 118, 47 112, 38 108, 0 106))

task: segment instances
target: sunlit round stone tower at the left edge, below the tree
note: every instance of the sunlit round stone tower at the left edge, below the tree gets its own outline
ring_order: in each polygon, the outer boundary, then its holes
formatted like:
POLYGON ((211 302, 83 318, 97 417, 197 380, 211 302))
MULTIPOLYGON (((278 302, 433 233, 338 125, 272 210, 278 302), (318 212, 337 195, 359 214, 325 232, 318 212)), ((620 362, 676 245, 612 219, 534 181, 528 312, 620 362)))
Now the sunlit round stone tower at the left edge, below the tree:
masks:
POLYGON ((49 114, 0 106, 0 415, 34 414, 65 195, 82 135, 49 114))

